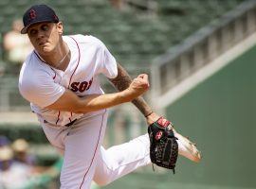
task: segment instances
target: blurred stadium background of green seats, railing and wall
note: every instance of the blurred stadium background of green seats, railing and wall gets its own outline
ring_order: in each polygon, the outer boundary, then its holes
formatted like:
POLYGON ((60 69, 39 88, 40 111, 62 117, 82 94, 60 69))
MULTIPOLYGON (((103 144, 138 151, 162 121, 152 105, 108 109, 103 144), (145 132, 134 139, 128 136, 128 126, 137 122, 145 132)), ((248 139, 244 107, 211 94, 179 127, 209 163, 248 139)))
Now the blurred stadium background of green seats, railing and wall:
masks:
MULTIPOLYGON (((94 35, 132 76, 148 73, 147 100, 202 150, 202 163, 181 157, 175 175, 149 166, 103 188, 256 188, 255 0, 2 0, 1 43, 37 3, 56 9, 65 34, 94 35)), ((0 135, 26 139, 36 163, 55 170, 21 188, 57 188, 62 158, 20 96, 17 71, 1 46, 0 135)), ((132 105, 111 109, 104 146, 136 137, 145 125, 132 105)))

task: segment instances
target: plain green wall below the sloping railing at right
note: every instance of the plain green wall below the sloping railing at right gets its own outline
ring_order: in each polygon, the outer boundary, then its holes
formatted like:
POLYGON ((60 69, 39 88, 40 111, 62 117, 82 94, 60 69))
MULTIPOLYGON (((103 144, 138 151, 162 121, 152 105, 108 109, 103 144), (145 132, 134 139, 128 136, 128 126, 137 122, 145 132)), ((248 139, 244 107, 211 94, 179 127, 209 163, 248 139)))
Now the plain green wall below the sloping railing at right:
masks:
POLYGON ((256 46, 167 109, 175 129, 201 149, 176 174, 134 173, 105 188, 256 188, 256 46))

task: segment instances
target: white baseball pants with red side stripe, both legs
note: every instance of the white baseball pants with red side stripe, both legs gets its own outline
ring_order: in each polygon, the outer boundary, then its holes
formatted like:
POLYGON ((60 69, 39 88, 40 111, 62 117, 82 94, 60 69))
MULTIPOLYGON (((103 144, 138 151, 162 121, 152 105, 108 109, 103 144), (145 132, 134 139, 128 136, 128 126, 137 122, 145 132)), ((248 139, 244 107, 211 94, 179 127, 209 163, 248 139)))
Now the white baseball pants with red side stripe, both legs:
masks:
POLYGON ((82 117, 68 128, 41 123, 49 142, 64 154, 61 189, 89 189, 92 180, 106 185, 151 163, 147 134, 104 149, 106 123, 107 112, 82 117))

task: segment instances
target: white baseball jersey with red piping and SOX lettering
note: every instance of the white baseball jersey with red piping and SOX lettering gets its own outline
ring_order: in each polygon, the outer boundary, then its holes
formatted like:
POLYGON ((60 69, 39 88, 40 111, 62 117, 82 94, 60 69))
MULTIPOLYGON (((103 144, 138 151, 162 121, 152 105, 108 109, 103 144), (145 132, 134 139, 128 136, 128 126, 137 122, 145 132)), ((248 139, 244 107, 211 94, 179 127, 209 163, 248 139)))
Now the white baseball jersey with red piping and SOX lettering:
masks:
MULTIPOLYGON (((63 38, 71 51, 65 71, 49 66, 33 51, 23 64, 19 78, 20 93, 30 102, 39 121, 56 126, 64 126, 83 115, 46 109, 64 94, 65 89, 70 89, 78 96, 103 94, 97 76, 101 73, 110 78, 118 75, 115 58, 100 40, 83 35, 63 38)), ((101 112, 86 114, 91 116, 101 112)))

